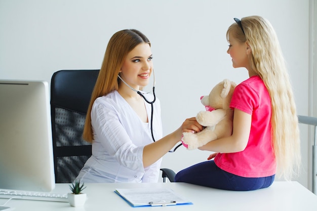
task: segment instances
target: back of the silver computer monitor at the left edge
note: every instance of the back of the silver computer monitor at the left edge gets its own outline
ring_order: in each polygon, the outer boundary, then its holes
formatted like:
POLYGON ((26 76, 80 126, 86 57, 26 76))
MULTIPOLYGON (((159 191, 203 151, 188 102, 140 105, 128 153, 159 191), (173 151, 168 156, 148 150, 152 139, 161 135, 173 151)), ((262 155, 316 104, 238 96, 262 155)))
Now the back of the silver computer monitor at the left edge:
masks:
POLYGON ((0 79, 0 189, 54 188, 48 82, 0 79))

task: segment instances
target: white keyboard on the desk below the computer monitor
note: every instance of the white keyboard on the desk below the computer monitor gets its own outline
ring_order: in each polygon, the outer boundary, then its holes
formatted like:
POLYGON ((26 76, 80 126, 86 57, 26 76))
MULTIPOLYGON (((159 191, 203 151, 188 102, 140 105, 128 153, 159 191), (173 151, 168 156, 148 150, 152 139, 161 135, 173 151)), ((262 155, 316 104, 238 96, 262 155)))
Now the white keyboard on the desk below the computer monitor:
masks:
POLYGON ((68 202, 67 194, 34 191, 0 190, 0 198, 68 202))

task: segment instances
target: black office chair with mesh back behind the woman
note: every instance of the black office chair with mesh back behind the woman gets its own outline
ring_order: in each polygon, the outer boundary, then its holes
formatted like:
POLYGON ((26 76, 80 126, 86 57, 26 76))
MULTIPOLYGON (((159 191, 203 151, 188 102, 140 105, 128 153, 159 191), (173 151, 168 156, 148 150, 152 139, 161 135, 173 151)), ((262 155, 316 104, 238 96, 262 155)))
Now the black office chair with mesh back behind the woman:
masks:
MULTIPOLYGON (((56 183, 72 183, 91 156, 82 134, 99 70, 60 70, 51 80, 51 118, 56 183)), ((163 182, 175 173, 162 168, 163 182)))

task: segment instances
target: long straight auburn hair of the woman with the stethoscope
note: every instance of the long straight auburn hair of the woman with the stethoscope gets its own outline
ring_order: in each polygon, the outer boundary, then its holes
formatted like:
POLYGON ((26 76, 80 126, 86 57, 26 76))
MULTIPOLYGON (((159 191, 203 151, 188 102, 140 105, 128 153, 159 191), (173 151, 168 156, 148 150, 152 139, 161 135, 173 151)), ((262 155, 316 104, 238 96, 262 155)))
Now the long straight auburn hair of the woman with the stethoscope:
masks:
POLYGON ((98 97, 118 89, 121 80, 117 75, 125 58, 130 51, 141 43, 147 43, 151 46, 148 38, 136 29, 118 31, 110 38, 86 115, 83 138, 87 142, 92 143, 94 139, 90 115, 94 101, 98 97))

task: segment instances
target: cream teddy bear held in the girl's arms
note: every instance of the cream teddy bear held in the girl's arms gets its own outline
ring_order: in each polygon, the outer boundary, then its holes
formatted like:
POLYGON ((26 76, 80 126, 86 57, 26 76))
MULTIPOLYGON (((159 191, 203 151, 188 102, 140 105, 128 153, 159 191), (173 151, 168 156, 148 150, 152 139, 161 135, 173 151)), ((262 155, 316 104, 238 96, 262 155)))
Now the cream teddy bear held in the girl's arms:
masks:
POLYGON ((232 134, 233 110, 229 108, 236 84, 228 79, 219 82, 209 95, 201 97, 206 111, 200 111, 196 120, 204 126, 197 133, 183 133, 182 143, 189 150, 232 134))

